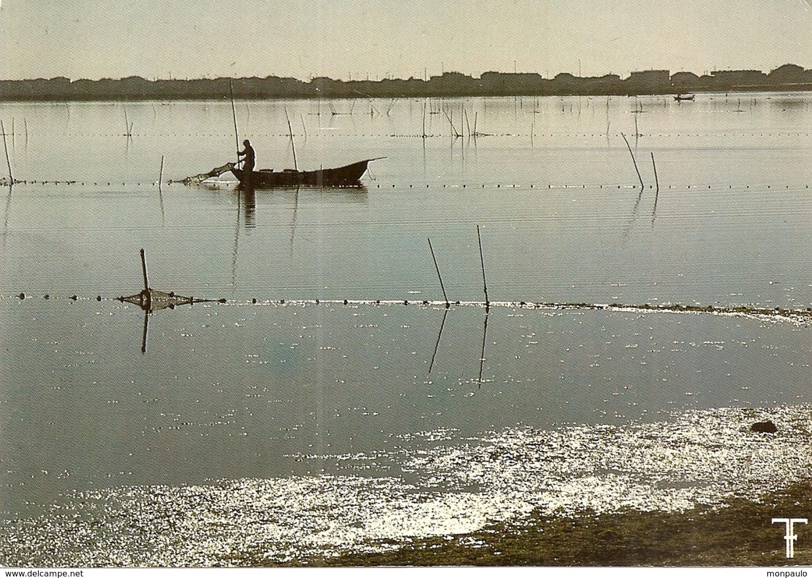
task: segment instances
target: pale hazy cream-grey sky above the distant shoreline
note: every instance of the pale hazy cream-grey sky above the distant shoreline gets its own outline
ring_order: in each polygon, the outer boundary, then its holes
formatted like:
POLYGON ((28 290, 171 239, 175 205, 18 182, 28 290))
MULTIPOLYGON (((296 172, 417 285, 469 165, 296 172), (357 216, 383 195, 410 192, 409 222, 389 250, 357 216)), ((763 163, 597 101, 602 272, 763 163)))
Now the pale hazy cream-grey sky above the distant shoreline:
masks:
POLYGON ((812 68, 809 0, 0 0, 0 79, 812 68))

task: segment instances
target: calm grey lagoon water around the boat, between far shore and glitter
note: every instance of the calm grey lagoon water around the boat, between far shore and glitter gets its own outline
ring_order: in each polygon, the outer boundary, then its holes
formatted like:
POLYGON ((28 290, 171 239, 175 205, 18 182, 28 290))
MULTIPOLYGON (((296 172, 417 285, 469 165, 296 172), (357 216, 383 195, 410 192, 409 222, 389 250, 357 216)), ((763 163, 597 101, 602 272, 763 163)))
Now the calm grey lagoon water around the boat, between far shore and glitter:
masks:
POLYGON ((233 159, 230 102, 0 105, 25 181, 2 190, 0 515, 341 474, 313 456, 433 431, 808 403, 808 326, 491 308, 480 383, 484 308, 324 300, 442 300, 430 238, 449 299, 482 301, 478 225, 490 300, 812 306, 810 105, 238 101, 258 166, 293 166, 287 119, 300 168, 384 157, 363 188, 253 196, 169 182, 233 159), (152 287, 227 300, 149 315, 143 353, 144 312, 114 300, 140 291, 140 248, 152 287))

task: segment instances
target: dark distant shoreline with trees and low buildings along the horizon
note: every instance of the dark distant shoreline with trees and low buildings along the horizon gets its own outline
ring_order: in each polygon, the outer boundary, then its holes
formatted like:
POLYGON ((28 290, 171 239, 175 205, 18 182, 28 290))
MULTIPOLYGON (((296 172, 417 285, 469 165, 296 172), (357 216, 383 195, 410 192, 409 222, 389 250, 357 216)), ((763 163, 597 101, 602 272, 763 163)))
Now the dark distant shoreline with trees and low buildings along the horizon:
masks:
POLYGON ((348 99, 443 97, 638 96, 692 93, 812 91, 812 69, 784 64, 762 71, 693 72, 651 70, 619 75, 575 76, 562 72, 546 79, 533 72, 483 72, 478 78, 445 72, 429 79, 309 81, 279 76, 197 80, 0 80, 0 101, 180 101, 230 99, 348 99))

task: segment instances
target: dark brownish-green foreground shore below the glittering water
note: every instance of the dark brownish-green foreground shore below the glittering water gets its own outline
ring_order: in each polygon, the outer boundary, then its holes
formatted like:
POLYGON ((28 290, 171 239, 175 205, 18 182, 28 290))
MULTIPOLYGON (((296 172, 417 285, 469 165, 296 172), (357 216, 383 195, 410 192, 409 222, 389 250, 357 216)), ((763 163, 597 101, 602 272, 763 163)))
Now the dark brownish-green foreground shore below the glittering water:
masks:
MULTIPOLYGON (((784 524, 775 518, 812 517, 812 481, 762 495, 733 498, 723 507, 683 512, 628 510, 556 518, 533 512, 525 520, 492 524, 475 533, 418 539, 379 554, 345 554, 289 564, 305 567, 568 566, 783 567, 812 563, 812 528, 795 524, 794 558, 785 552, 784 524)), ((391 542, 395 546, 395 542, 391 542)), ((250 554, 238 566, 277 566, 250 554)))

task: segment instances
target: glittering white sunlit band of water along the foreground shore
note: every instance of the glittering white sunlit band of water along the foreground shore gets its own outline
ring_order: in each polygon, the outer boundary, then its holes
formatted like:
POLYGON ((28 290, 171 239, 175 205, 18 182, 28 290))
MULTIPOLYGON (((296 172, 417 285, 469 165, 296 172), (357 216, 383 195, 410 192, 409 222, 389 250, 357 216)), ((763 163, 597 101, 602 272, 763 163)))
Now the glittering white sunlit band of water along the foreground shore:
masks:
POLYGON ((758 498, 812 474, 808 405, 674 417, 636 425, 512 428, 477 438, 443 429, 404 436, 404 446, 392 451, 296 456, 343 464, 346 472, 339 476, 86 490, 44 515, 6 524, 2 562, 290 563, 390 550, 414 538, 451 540, 533 510, 557 517, 713 507, 732 496, 758 498), (780 433, 749 431, 751 421, 764 419, 775 421, 780 433), (377 475, 370 477, 369 470, 377 475))

